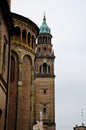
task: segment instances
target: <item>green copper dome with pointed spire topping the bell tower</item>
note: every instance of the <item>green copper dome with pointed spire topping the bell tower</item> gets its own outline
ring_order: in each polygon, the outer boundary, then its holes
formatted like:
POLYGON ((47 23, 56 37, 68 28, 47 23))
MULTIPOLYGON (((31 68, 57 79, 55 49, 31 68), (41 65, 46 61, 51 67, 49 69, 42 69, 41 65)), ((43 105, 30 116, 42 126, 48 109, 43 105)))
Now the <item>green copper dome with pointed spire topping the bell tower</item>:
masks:
POLYGON ((51 30, 50 28, 48 27, 47 23, 46 23, 46 18, 45 18, 45 15, 44 15, 44 18, 43 18, 43 23, 39 29, 39 34, 40 33, 48 33, 50 34, 51 30))

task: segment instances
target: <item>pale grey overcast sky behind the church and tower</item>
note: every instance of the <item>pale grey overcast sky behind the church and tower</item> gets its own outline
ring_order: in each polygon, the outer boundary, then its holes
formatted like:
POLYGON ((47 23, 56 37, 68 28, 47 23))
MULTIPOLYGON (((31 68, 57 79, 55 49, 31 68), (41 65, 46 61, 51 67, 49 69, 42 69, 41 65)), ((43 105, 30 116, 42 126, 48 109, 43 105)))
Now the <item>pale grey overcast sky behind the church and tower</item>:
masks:
POLYGON ((86 0, 12 0, 11 11, 39 27, 44 11, 55 50, 56 128, 86 124, 86 0))

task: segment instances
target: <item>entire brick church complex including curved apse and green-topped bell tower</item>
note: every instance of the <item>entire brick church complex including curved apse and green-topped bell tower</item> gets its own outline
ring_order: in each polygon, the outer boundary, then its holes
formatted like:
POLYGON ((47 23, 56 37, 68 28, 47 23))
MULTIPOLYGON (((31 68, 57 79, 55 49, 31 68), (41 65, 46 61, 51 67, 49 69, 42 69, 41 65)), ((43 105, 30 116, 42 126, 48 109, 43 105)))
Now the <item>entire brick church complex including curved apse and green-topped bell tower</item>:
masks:
POLYGON ((39 28, 11 13, 10 1, 0 2, 0 130, 33 130, 40 112, 43 129, 55 130, 55 55, 46 17, 39 28))

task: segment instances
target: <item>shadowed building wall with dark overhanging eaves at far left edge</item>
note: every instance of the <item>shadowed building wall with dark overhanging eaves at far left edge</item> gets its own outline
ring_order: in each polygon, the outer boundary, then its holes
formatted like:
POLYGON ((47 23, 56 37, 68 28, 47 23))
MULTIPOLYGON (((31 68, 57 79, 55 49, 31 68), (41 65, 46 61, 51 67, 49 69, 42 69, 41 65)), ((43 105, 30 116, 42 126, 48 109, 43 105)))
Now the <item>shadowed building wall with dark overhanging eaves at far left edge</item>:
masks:
POLYGON ((6 126, 9 86, 10 34, 13 28, 9 6, 0 0, 0 130, 6 126))

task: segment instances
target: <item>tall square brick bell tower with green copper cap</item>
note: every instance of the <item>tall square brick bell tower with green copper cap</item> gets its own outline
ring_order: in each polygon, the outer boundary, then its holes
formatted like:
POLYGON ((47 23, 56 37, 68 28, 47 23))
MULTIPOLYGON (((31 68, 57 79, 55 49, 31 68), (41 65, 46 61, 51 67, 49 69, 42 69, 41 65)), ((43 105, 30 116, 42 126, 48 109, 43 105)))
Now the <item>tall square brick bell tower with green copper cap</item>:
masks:
POLYGON ((39 120, 39 113, 43 115, 45 130, 55 130, 55 74, 54 51, 51 44, 51 30, 46 23, 39 29, 35 58, 35 121, 39 120))

